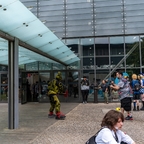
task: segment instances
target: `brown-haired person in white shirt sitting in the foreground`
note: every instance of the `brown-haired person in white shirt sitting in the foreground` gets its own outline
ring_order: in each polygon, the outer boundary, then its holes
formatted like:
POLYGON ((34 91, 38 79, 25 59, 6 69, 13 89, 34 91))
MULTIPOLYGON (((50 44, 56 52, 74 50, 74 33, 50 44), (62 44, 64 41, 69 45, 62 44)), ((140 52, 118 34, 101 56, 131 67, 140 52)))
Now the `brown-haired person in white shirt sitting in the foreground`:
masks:
POLYGON ((97 144, 136 144, 134 140, 125 134, 121 128, 124 116, 121 112, 110 110, 104 116, 101 127, 95 138, 97 144))

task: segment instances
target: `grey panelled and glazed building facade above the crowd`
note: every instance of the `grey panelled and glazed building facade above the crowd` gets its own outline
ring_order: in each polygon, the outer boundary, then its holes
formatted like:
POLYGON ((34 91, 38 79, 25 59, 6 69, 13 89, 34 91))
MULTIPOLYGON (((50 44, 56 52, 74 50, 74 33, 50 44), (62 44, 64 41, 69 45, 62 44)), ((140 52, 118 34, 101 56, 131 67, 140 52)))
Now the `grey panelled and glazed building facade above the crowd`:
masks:
MULTIPOLYGON (((88 76, 100 82, 116 70, 143 72, 144 15, 142 0, 21 0, 80 58, 66 68, 64 77, 88 76)), ((31 65, 31 64, 29 64, 31 65)), ((40 68, 42 69, 42 68, 40 68)), ((32 69, 29 69, 33 71, 32 69)), ((44 69, 43 69, 44 70, 44 69)), ((46 70, 46 69, 45 69, 46 70)))

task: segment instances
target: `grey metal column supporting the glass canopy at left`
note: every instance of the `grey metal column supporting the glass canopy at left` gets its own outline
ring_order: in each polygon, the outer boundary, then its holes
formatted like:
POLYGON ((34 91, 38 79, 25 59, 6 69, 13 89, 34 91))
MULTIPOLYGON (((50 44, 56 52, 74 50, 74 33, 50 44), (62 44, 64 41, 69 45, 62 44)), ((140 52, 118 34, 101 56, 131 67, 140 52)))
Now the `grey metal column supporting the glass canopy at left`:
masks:
POLYGON ((8 45, 8 128, 17 129, 19 126, 18 108, 18 39, 9 41, 8 45))

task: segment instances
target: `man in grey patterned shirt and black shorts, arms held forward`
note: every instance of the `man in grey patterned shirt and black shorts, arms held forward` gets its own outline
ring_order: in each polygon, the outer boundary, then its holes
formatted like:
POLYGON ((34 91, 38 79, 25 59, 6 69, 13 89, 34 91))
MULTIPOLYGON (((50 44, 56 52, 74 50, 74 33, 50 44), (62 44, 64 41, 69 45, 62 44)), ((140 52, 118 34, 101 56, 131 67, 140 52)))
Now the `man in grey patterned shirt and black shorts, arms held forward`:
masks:
POLYGON ((132 98, 130 97, 131 87, 127 78, 124 78, 123 72, 116 72, 116 76, 119 79, 118 84, 110 85, 111 89, 117 90, 120 96, 121 112, 127 112, 126 120, 133 120, 131 114, 132 98))

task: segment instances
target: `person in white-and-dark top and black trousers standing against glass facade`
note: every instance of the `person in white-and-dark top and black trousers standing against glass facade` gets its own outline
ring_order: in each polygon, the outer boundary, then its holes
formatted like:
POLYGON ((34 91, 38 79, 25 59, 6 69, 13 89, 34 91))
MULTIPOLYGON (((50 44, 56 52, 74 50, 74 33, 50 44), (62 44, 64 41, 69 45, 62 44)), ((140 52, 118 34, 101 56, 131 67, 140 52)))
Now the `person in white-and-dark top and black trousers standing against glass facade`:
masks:
POLYGON ((87 80, 86 76, 83 76, 83 80, 81 81, 81 92, 83 103, 87 103, 87 98, 89 94, 89 81, 87 80))

